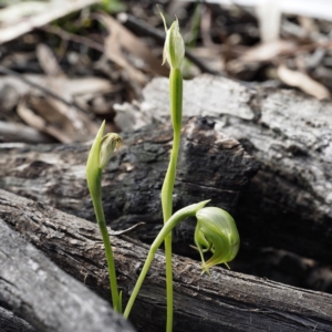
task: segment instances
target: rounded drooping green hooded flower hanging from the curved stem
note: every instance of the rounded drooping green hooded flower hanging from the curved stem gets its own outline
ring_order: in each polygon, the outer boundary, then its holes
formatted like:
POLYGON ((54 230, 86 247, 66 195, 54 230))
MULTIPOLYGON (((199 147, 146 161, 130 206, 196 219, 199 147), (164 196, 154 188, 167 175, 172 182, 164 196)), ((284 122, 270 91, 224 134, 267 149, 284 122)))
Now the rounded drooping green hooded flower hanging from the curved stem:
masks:
POLYGON ((195 243, 200 253, 204 271, 231 261, 238 253, 240 237, 235 220, 225 210, 217 207, 206 207, 196 214, 197 226, 195 243), (204 252, 211 251, 212 257, 206 262, 204 252))

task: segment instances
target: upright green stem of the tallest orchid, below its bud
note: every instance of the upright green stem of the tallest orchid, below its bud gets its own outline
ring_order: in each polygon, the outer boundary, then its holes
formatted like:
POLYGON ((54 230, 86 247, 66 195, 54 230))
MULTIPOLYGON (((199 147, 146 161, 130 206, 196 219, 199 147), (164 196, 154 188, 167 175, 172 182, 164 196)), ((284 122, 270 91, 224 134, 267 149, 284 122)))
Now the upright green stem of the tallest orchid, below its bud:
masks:
MULTIPOLYGON (((174 139, 168 169, 162 188, 162 206, 164 224, 173 214, 173 191, 176 177, 176 165, 180 146, 181 113, 183 113, 183 76, 179 69, 172 69, 169 75, 170 115, 173 122, 174 139)), ((173 270, 172 270, 172 232, 165 238, 166 256, 166 295, 167 321, 166 331, 173 330, 173 270)))

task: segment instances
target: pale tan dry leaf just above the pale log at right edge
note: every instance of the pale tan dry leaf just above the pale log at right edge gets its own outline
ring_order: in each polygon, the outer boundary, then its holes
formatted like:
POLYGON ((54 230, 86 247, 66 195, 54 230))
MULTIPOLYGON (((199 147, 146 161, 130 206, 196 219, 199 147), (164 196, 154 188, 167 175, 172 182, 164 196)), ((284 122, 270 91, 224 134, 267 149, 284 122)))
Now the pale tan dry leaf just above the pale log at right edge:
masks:
POLYGON ((303 92, 315 96, 319 100, 330 98, 329 90, 321 83, 314 81, 304 73, 292 71, 286 65, 281 64, 278 68, 279 79, 290 86, 297 86, 303 92))

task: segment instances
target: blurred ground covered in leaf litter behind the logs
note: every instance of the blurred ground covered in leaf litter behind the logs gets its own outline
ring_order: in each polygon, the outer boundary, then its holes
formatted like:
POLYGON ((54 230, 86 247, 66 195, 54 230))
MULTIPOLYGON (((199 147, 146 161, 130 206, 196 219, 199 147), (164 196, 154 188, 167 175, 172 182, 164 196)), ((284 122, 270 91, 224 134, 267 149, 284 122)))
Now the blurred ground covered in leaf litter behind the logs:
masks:
MULTIPOLYGON (((86 142, 104 118, 121 132, 121 105, 168 75, 157 3, 179 20, 187 80, 210 73, 330 98, 332 1, 312 2, 2 0, 0 142, 86 142)), ((232 269, 332 292, 331 267, 272 248, 240 253, 232 269)))

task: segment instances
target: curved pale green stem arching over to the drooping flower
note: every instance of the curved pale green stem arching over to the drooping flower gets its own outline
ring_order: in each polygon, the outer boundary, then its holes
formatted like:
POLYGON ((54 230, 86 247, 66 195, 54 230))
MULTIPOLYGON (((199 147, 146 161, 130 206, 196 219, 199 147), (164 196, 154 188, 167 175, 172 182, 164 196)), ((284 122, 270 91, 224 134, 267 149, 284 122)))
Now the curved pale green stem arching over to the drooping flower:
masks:
POLYGON ((208 201, 209 200, 205 200, 205 201, 200 201, 198 204, 189 205, 189 206, 178 210, 176 214, 174 214, 169 218, 169 220, 166 224, 164 224, 164 227, 160 229, 158 236, 156 237, 156 239, 154 240, 154 242, 151 246, 151 249, 148 251, 147 258, 145 260, 145 263, 143 266, 143 269, 141 271, 138 280, 137 280, 135 288, 131 294, 129 301, 128 301, 126 309, 124 311, 124 314, 123 314, 125 319, 127 319, 131 313, 131 310, 132 310, 135 299, 139 292, 139 289, 143 284, 143 281, 148 271, 148 268, 155 257, 157 249, 160 247, 160 245, 163 243, 165 238, 170 234, 172 229, 176 225, 178 225, 181 220, 184 220, 188 217, 194 217, 197 214, 197 211, 199 211, 208 201))

